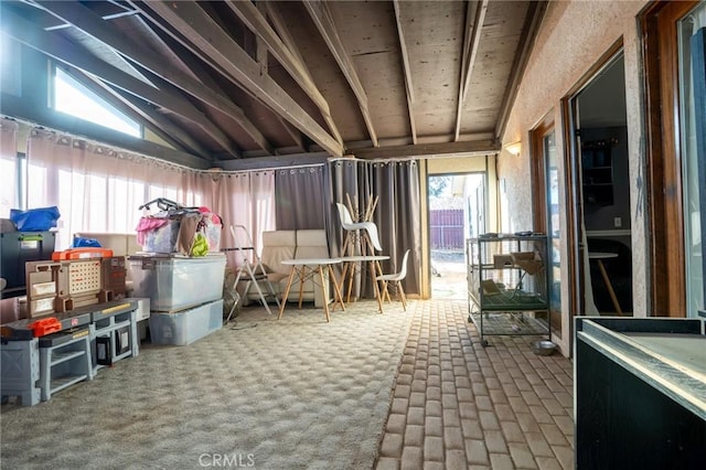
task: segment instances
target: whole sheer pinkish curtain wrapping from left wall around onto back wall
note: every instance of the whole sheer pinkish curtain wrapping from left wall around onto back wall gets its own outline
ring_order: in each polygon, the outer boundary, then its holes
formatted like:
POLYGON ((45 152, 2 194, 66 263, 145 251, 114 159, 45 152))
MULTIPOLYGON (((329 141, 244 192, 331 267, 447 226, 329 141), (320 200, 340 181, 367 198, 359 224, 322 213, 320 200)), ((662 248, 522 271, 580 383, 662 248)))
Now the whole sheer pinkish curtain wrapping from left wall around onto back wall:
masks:
MULTIPOLYGON (((29 207, 56 205, 57 249, 79 232, 136 234, 143 211, 158 197, 208 207, 223 220, 221 245, 233 246, 228 227, 245 225, 256 244, 275 229, 274 171, 211 174, 69 136, 33 129, 28 142, 29 207)), ((152 212, 159 209, 152 204, 152 212)), ((259 244, 257 245, 259 246, 259 244)))

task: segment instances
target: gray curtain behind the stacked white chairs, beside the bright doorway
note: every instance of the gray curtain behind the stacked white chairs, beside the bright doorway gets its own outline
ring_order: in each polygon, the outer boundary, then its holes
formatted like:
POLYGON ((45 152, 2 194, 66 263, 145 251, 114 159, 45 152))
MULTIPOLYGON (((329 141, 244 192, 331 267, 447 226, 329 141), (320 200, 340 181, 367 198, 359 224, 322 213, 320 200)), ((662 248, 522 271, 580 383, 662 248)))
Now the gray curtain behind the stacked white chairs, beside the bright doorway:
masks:
MULTIPOLYGON (((370 200, 377 197, 372 221, 379 232, 383 246, 379 254, 389 256, 388 260, 382 263, 383 273, 398 271, 405 252, 411 249, 404 288, 405 292, 419 293, 421 210, 418 162, 336 160, 330 163, 330 175, 329 217, 332 223, 327 229, 332 255, 340 254, 345 237, 335 203, 347 205, 350 197, 352 204, 357 205, 362 212, 370 200)), ((355 282, 357 297, 373 296, 368 276, 366 269, 361 269, 355 282)))

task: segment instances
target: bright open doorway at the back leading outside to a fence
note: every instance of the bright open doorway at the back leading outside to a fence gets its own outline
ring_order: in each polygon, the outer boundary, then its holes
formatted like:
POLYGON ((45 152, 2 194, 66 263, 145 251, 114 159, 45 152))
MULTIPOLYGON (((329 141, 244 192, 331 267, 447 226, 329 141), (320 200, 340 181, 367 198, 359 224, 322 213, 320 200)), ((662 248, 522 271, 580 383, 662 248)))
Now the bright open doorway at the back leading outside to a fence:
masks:
POLYGON ((468 300, 466 241, 486 231, 485 174, 428 178, 431 298, 468 300))

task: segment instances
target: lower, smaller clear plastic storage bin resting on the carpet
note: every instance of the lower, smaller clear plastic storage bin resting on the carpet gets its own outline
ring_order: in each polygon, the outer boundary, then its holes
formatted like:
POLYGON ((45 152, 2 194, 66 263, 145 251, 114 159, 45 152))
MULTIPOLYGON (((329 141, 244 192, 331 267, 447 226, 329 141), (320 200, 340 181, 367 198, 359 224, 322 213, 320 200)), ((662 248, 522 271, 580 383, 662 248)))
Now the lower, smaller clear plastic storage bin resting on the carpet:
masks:
POLYGON ((223 299, 174 313, 150 314, 152 344, 185 346, 223 327, 223 299))

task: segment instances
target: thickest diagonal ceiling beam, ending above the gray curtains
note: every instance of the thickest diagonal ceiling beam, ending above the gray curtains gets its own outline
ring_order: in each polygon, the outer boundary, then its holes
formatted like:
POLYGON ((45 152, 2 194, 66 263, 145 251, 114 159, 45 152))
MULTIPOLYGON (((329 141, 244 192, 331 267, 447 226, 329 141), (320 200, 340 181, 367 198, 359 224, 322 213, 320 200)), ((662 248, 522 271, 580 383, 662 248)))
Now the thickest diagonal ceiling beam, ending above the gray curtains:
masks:
POLYGON ((235 79, 275 113, 292 122, 303 133, 333 156, 342 156, 342 146, 303 110, 271 77, 259 73, 259 65, 195 2, 152 1, 140 3, 176 29, 186 47, 235 79), (184 42, 185 40, 185 42, 184 42))

